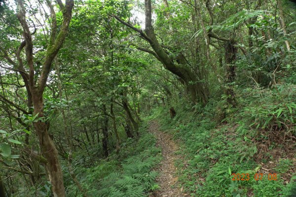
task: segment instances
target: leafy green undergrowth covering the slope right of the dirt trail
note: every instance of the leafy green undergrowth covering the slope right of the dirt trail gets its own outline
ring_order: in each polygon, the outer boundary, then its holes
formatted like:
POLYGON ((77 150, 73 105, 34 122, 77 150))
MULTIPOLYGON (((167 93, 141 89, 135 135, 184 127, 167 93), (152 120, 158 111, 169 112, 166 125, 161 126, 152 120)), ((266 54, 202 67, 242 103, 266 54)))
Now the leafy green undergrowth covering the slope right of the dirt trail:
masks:
POLYGON ((212 99, 195 111, 175 104, 174 119, 168 107, 152 111, 160 129, 181 140, 183 159, 176 161, 181 186, 192 197, 295 197, 296 133, 289 127, 296 118, 295 87, 238 94, 236 108, 212 99), (249 173, 250 180, 232 181, 232 173, 249 173), (261 180, 256 173, 263 173, 261 180), (275 173, 277 180, 268 180, 275 173))

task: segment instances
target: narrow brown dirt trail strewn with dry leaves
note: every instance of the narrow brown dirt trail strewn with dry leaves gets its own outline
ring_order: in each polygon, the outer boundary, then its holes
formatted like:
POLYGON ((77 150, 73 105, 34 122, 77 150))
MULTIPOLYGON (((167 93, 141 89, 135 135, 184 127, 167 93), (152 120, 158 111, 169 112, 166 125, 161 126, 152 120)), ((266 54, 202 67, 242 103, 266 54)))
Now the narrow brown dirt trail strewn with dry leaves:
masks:
POLYGON ((180 188, 177 187, 178 177, 175 176, 174 161, 177 156, 174 152, 179 149, 178 145, 171 139, 172 135, 158 131, 156 121, 150 122, 149 131, 156 136, 156 146, 161 147, 163 156, 162 162, 155 169, 160 173, 156 179, 160 189, 151 194, 150 197, 184 197, 180 188), (172 186, 174 187, 172 188, 172 186))

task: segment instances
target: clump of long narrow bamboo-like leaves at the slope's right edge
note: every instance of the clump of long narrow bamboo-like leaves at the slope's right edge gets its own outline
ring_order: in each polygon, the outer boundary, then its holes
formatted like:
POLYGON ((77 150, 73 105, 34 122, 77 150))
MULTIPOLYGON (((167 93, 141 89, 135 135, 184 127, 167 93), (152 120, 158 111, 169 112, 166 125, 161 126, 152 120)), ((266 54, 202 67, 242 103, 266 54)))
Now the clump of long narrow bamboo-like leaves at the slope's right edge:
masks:
POLYGON ((245 89, 244 94, 252 96, 250 104, 243 109, 243 116, 249 118, 249 127, 295 132, 296 103, 292 98, 296 92, 293 85, 278 85, 271 90, 245 89))

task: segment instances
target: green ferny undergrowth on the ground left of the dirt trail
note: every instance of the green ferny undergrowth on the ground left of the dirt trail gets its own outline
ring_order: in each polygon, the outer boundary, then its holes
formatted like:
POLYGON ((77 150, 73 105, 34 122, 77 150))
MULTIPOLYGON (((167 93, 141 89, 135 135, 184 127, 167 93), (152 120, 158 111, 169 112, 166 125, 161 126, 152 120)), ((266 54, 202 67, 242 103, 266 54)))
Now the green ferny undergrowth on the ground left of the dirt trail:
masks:
MULTIPOLYGON (((121 144, 119 155, 115 151, 108 159, 95 157, 98 149, 90 149, 86 155, 75 153, 73 168, 80 184, 89 197, 147 197, 158 188, 155 183, 157 172, 152 168, 161 160, 161 152, 155 147, 154 135, 147 131, 147 124, 140 128, 138 138, 127 138, 121 144), (94 158, 97 158, 94 159, 94 158)), ((67 197, 82 197, 62 161, 65 174, 67 197)), ((20 191, 19 196, 34 196, 31 192, 20 191), (21 193, 21 194, 20 194, 21 193)), ((38 189, 38 196, 50 197, 50 182, 38 189)))

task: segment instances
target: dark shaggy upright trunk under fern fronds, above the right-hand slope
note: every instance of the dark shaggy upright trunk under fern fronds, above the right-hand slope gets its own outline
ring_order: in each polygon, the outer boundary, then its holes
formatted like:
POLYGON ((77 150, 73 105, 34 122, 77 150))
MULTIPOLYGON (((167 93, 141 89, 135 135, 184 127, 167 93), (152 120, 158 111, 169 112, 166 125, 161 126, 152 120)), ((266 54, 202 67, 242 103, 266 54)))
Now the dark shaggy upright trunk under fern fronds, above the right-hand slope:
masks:
POLYGON ((233 90, 233 83, 235 81, 235 60, 237 47, 233 41, 227 41, 225 46, 225 66, 226 66, 226 95, 227 102, 232 106, 235 106, 235 94, 233 90))

